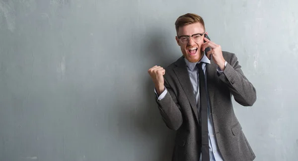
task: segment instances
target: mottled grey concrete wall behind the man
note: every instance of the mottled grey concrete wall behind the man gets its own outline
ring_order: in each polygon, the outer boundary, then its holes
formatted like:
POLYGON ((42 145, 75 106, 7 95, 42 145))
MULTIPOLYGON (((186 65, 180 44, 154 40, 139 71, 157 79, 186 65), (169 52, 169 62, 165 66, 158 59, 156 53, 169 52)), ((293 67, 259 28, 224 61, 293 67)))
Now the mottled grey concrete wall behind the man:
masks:
POLYGON ((169 161, 147 70, 187 12, 256 87, 234 102, 256 161, 296 161, 297 0, 0 0, 0 161, 169 161))

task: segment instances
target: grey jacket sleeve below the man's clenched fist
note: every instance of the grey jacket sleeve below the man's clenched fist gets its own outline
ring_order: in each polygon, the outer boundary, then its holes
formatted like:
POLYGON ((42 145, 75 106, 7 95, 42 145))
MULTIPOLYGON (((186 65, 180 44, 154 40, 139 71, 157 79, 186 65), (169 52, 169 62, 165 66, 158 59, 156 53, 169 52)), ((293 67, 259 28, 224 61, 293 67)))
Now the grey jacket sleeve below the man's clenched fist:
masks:
POLYGON ((183 121, 181 108, 177 104, 177 99, 173 89, 170 87, 165 78, 164 86, 167 90, 167 93, 161 100, 156 98, 156 103, 166 126, 172 130, 178 130, 183 121))

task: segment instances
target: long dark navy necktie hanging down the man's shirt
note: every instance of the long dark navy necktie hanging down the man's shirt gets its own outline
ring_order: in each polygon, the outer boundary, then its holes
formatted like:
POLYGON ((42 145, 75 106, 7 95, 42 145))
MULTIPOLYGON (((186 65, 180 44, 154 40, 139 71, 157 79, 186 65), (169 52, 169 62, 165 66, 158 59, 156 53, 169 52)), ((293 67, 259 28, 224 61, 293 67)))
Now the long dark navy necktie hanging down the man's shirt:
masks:
POLYGON ((202 161, 210 161, 208 137, 208 102, 205 83, 205 74, 202 62, 196 65, 199 68, 200 79, 200 109, 201 109, 201 135, 202 135, 202 161))

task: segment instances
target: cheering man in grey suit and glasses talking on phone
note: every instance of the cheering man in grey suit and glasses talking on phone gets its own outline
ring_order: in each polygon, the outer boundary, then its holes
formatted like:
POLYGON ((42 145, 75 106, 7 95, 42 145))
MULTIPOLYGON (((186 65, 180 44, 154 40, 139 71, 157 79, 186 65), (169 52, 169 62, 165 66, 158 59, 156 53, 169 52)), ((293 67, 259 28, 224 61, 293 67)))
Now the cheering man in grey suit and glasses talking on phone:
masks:
POLYGON ((255 159, 232 107, 232 97, 252 106, 256 91, 235 54, 204 38, 202 17, 187 13, 175 22, 183 56, 163 69, 148 70, 166 126, 176 130, 172 161, 255 159), (205 53, 205 49, 211 50, 205 53))

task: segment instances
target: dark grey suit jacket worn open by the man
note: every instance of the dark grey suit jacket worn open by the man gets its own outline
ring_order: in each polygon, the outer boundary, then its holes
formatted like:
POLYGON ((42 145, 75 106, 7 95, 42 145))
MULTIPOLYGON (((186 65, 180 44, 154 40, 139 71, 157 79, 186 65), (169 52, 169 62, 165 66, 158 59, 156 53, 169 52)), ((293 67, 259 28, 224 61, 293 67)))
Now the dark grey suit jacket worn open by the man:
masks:
MULTIPOLYGON (((256 90, 244 76, 235 54, 223 52, 227 61, 224 73, 217 72, 218 65, 211 59, 207 65, 207 83, 219 150, 224 161, 252 161, 252 151, 233 106, 232 95, 242 106, 252 106, 256 90)), ((166 126, 176 130, 172 161, 199 161, 201 152, 201 127, 198 123, 194 92, 184 61, 184 56, 165 68, 165 97, 158 101, 158 109, 166 126)))

